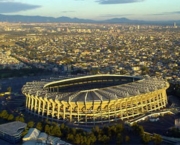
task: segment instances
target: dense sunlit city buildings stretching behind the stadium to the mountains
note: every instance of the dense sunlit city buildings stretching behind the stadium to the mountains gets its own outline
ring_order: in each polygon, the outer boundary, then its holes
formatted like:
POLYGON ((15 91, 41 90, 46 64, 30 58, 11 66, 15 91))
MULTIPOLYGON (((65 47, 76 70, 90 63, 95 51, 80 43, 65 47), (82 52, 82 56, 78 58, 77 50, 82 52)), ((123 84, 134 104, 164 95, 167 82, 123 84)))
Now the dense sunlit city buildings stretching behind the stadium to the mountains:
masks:
POLYGON ((179 81, 179 27, 0 23, 0 69, 118 73, 179 81))

